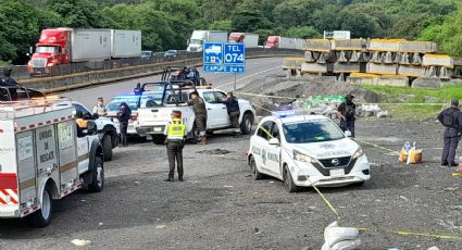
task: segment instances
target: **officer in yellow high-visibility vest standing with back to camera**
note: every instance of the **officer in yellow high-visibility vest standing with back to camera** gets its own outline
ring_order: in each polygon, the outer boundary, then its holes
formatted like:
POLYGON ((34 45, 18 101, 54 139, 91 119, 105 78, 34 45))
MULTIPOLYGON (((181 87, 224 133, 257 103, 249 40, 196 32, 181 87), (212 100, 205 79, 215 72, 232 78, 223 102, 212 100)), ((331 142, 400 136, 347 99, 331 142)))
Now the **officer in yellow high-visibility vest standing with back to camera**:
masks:
POLYGON ((168 178, 165 182, 173 182, 175 173, 175 160, 178 170, 178 180, 183 182, 183 147, 185 147, 186 126, 182 122, 182 111, 172 111, 172 121, 165 129, 166 153, 168 157, 168 178))

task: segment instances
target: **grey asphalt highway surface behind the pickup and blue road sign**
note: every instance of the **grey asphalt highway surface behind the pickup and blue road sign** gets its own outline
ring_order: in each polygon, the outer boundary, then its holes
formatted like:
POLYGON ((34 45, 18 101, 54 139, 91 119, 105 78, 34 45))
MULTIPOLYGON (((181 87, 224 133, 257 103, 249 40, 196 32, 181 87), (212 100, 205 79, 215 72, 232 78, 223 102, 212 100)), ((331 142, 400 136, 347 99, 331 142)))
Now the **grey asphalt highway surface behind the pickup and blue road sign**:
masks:
MULTIPOLYGON (((242 87, 250 80, 261 78, 271 74, 284 74, 283 58, 262 58, 262 59, 249 59, 246 64, 246 72, 237 74, 237 86, 242 87)), ((200 67, 198 67, 200 68, 200 67)), ((228 73, 203 73, 200 74, 207 79, 208 83, 214 85, 214 87, 223 90, 232 90, 234 88, 234 74, 228 73)), ((95 105, 98 97, 104 98, 108 103, 114 96, 122 93, 130 93, 137 83, 149 83, 159 82, 160 75, 154 75, 146 78, 132 79, 126 82, 120 82, 115 84, 101 85, 99 87, 89 87, 77 90, 72 90, 62 93, 62 96, 79 101, 91 108, 95 105)))

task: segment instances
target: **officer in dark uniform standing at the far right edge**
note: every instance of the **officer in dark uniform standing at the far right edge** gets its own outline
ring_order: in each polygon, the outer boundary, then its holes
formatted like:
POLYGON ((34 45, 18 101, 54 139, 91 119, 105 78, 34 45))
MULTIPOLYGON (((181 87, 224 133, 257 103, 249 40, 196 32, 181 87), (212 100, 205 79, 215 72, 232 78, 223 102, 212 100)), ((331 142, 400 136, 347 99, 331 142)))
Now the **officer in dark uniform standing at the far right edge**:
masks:
POLYGON ((457 166, 458 164, 454 162, 455 149, 458 148, 462 132, 462 113, 459 110, 458 99, 452 99, 451 107, 438 115, 438 121, 446 127, 441 166, 457 166))

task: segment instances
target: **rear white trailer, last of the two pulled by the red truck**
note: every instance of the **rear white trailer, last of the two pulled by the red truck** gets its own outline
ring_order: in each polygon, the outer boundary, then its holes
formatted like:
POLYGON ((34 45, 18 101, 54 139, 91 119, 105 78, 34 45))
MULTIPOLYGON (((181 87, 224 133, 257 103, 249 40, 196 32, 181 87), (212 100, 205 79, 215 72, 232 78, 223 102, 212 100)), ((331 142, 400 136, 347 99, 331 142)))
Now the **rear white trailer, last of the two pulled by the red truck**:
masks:
POLYGON ((111 30, 112 58, 139 58, 141 57, 140 30, 111 30))

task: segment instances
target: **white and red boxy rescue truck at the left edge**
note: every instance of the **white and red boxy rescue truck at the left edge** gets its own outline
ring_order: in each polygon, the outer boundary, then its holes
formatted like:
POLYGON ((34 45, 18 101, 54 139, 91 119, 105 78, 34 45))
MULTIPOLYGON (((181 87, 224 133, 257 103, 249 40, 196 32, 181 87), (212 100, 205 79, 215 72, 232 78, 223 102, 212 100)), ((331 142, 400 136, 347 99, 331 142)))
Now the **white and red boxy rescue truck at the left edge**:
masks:
POLYGON ((91 121, 76 125, 72 107, 0 102, 0 217, 50 224, 52 200, 104 185, 103 150, 91 121))

